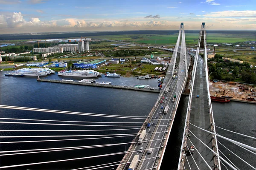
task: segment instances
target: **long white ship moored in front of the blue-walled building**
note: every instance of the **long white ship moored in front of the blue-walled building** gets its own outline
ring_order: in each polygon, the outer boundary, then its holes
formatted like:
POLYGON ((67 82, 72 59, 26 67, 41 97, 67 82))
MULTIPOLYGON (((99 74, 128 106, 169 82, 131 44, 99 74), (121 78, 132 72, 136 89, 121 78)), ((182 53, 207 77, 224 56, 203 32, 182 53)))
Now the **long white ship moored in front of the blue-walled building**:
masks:
POLYGON ((70 70, 59 71, 58 76, 73 76, 73 77, 98 77, 99 72, 90 70, 70 70))

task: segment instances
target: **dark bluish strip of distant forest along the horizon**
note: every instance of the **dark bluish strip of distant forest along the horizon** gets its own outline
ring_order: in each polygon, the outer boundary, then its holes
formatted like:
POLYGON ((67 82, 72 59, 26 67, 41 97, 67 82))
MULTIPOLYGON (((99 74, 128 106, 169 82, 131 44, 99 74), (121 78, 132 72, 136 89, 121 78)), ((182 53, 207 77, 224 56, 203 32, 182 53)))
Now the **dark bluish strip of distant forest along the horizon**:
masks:
MULTIPOLYGON (((27 39, 59 39, 67 37, 90 37, 90 36, 103 36, 103 35, 125 35, 125 34, 160 34, 169 35, 177 34, 178 30, 140 30, 140 31, 104 31, 104 32, 69 32, 69 33, 46 33, 38 35, 20 35, 20 34, 1 34, 0 40, 27 40, 27 39)), ((199 30, 187 30, 186 33, 199 33, 199 30)), ((252 34, 253 31, 218 31, 207 30, 207 33, 219 34, 252 34)))

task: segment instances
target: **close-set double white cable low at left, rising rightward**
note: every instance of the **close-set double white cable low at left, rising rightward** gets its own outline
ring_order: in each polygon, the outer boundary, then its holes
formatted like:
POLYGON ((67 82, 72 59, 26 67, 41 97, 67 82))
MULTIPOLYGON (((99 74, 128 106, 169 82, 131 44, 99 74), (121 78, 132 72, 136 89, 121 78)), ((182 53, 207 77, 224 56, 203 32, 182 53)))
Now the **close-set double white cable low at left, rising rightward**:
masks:
MULTIPOLYGON (((157 141, 157 140, 163 140, 163 139, 153 139, 153 140, 149 140, 149 141, 157 141)), ((63 150, 79 149, 79 148, 84 149, 84 148, 108 147, 108 146, 116 146, 116 145, 122 145, 122 144, 132 144, 132 143, 138 143, 138 142, 125 142, 125 143, 116 143, 116 144, 99 144, 99 145, 77 146, 77 147, 57 147, 57 148, 30 149, 30 150, 8 150, 8 151, 0 151, 0 153, 11 153, 11 154, 5 154, 5 155, 0 155, 0 156, 27 154, 27 153, 12 153, 12 152, 27 152, 27 151, 38 151, 38 150, 61 151, 60 149, 63 149, 63 150)), ((48 152, 52 152, 52 151, 48 151, 48 152)), ((32 152, 28 152, 28 153, 32 153, 32 152)), ((33 152, 33 153, 40 153, 40 152, 33 152)))

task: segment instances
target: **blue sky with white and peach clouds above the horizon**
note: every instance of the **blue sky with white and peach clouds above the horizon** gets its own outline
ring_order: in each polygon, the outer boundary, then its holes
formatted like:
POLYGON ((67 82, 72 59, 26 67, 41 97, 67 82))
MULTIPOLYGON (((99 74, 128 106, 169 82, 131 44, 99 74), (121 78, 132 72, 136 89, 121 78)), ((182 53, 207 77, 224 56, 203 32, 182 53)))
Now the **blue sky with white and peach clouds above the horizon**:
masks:
POLYGON ((256 30, 256 0, 0 0, 0 34, 256 30))

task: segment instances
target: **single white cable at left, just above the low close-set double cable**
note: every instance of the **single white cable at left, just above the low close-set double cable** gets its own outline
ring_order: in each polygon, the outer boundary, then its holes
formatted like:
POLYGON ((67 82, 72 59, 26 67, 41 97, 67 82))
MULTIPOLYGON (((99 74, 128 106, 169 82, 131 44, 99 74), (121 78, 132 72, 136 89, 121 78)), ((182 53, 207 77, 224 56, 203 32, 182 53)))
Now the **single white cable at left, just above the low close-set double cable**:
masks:
POLYGON ((0 144, 10 144, 10 143, 28 143, 28 142, 56 142, 56 141, 74 141, 74 140, 90 140, 90 139, 109 139, 109 138, 121 138, 121 137, 130 137, 136 135, 127 135, 127 136, 111 136, 111 137, 100 137, 100 138, 81 138, 81 139, 57 139, 57 140, 38 140, 38 141, 15 141, 15 142, 0 142, 0 144))

